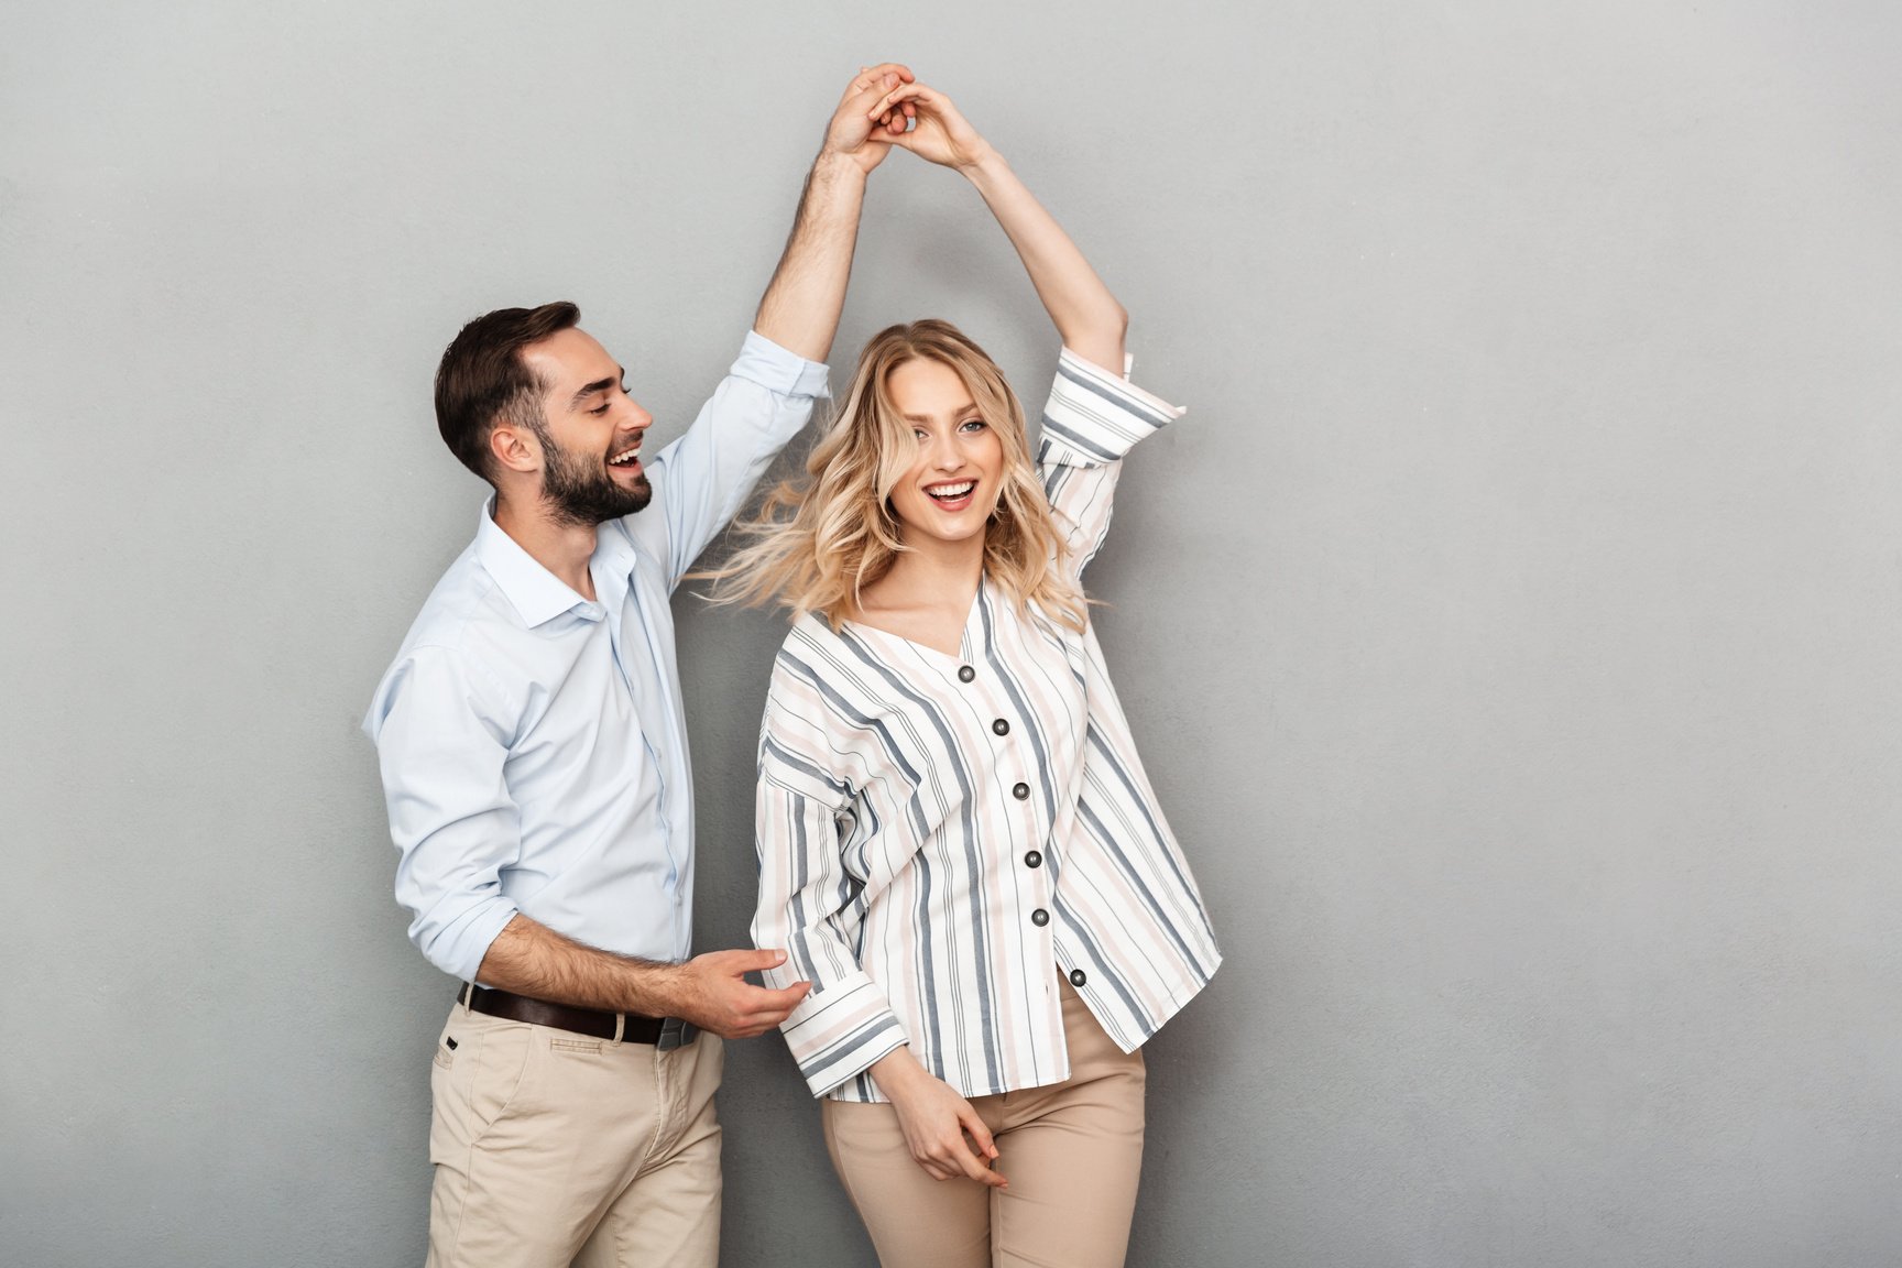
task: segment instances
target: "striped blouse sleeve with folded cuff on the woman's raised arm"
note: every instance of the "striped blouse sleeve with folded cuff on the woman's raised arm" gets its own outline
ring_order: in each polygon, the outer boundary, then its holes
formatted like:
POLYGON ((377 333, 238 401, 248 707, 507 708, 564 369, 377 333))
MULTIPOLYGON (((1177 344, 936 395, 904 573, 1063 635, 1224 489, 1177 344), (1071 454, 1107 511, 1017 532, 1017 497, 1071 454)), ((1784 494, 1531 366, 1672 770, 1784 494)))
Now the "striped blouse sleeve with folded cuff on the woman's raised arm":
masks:
POLYGON ((1058 357, 1058 376, 1044 405, 1037 470, 1069 546, 1071 580, 1082 576, 1109 532, 1109 508, 1122 454, 1155 435, 1183 409, 1143 392, 1069 348, 1058 357))

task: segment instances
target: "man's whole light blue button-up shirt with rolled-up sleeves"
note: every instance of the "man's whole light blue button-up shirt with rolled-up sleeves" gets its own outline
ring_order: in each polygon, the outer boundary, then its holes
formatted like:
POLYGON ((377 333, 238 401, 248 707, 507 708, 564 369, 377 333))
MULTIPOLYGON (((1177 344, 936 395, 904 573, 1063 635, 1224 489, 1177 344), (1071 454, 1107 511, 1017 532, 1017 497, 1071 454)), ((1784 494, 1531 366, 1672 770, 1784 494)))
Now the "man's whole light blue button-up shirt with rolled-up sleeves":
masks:
POLYGON ((495 525, 436 584, 384 673, 377 741, 409 937, 476 981, 519 911, 580 943, 685 960, 694 808, 668 595, 827 395, 757 333, 694 426, 601 525, 582 599, 495 525))

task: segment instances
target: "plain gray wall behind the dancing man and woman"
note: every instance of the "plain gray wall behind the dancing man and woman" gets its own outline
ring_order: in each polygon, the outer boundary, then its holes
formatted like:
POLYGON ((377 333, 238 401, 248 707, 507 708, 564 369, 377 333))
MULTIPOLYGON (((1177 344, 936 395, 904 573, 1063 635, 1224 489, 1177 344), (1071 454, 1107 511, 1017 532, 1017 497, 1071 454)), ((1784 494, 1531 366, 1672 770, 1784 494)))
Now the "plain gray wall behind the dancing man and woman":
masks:
MULTIPOLYGON (((468 316, 673 433, 844 76, 953 93, 1191 405, 1094 589, 1227 968, 1134 1264, 1902 1260, 1892 4, 10 4, 0 1262, 405 1264, 449 985, 358 719, 468 316)), ((1054 342, 875 179, 839 355, 1054 342)), ((780 625, 681 597, 704 947, 780 625)), ((740 1047, 727 1262, 869 1264, 740 1047)))

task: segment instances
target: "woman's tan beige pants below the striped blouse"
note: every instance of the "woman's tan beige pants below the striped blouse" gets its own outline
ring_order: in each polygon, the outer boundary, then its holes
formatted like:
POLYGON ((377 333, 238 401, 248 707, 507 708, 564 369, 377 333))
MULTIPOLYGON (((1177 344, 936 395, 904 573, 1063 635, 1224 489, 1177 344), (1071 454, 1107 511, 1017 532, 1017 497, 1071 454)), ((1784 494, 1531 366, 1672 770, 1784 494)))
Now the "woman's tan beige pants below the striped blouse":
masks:
POLYGON ((934 1181, 890 1105, 822 1101, 825 1150, 884 1268, 1120 1268, 1143 1169, 1143 1053, 1124 1053, 1069 983, 1071 1076, 972 1097, 1010 1188, 934 1181))

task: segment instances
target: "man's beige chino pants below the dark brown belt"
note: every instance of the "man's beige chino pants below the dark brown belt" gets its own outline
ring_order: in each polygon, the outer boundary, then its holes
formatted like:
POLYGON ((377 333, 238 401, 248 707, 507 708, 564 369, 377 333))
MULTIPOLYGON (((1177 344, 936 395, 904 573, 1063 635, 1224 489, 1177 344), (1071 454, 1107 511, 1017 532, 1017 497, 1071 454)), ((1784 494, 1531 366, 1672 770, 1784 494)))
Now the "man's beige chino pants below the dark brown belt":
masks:
POLYGON ((658 1051, 456 1004, 430 1074, 428 1268, 719 1260, 717 1036, 658 1051))

